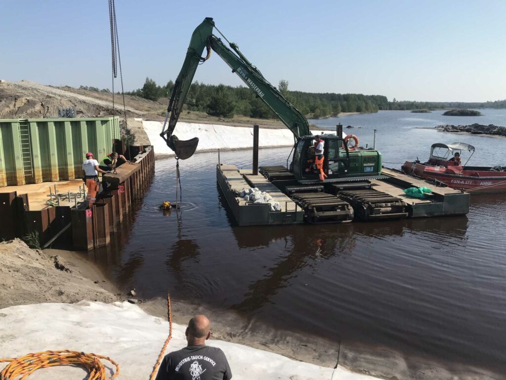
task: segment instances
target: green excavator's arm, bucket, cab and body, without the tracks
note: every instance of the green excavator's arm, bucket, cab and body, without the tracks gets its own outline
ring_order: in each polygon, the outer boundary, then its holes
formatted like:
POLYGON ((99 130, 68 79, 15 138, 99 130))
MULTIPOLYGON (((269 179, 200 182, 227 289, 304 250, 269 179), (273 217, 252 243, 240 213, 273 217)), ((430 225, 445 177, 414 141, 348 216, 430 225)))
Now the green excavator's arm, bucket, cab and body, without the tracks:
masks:
MULTIPOLYGON (((301 183, 321 182, 322 176, 315 170, 308 170, 308 160, 314 159, 314 139, 309 130, 309 123, 302 113, 272 86, 260 70, 239 51, 237 44, 231 43, 216 27, 212 18, 206 17, 197 26, 192 34, 190 46, 175 82, 174 90, 163 123, 160 136, 176 153, 179 159, 190 158, 197 148, 198 137, 190 140, 179 140, 173 134, 179 119, 183 104, 192 84, 197 66, 209 59, 211 52, 215 51, 235 72, 239 78, 262 99, 276 114, 283 124, 293 133, 294 151, 289 169, 284 167, 264 167, 264 175, 275 173, 277 177, 283 176, 297 179, 301 183), (213 34, 216 29, 227 41, 230 48, 213 34), (206 50, 206 56, 202 56, 206 50), (170 115, 170 118, 169 118, 170 115), (168 121, 168 125, 167 125, 168 121)), ((372 179, 381 176, 381 154, 374 149, 355 149, 349 147, 348 141, 343 138, 342 129, 338 128, 336 134, 320 135, 324 142, 324 159, 321 169, 325 173, 324 182, 345 182, 372 179)), ((355 138, 355 145, 358 141, 355 138)), ((291 153, 290 153, 291 155, 291 153)), ((287 160, 288 162, 288 160, 287 160)), ((309 167, 311 165, 309 164, 309 167)))

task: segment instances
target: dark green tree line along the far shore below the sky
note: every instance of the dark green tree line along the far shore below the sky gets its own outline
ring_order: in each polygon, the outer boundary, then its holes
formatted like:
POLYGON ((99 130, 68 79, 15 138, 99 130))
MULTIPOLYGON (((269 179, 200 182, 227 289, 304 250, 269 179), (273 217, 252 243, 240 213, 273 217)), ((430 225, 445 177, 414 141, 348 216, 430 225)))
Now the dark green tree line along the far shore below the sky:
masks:
MULTIPOLYGON (((81 86, 81 89, 109 92, 96 87, 81 86)), ((146 78, 144 86, 125 94, 139 96, 156 101, 169 98, 174 89, 174 82, 168 81, 159 86, 146 78)), ((488 102, 423 102, 423 101, 388 101, 384 95, 310 93, 288 90, 288 81, 280 81, 278 90, 299 109, 307 118, 338 116, 341 112, 377 112, 378 110, 413 110, 445 108, 506 108, 506 100, 488 102)), ((232 118, 242 115, 256 119, 275 118, 271 109, 256 96, 254 91, 244 86, 207 85, 194 82, 186 97, 187 110, 203 111, 209 115, 232 118)))

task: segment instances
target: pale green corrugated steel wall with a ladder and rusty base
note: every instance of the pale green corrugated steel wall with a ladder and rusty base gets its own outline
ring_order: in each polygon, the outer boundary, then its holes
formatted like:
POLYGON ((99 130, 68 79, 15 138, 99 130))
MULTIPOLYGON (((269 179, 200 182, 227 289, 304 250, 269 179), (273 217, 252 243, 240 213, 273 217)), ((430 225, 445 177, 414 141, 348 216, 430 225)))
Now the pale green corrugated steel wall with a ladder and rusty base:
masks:
POLYGON ((100 162, 119 139, 119 118, 0 119, 0 187, 80 178, 85 154, 100 162))

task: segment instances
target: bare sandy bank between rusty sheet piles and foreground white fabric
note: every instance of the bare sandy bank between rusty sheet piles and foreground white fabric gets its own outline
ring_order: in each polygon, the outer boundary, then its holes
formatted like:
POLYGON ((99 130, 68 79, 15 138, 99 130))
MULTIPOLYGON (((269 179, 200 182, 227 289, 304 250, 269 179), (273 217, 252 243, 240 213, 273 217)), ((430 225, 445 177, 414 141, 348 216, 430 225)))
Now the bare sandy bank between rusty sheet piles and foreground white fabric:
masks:
MULTIPOLYGON (((41 302, 113 302, 117 295, 82 276, 77 265, 59 251, 32 250, 21 240, 0 243, 0 309, 41 302)), ((91 274, 91 273, 90 273, 91 274)))

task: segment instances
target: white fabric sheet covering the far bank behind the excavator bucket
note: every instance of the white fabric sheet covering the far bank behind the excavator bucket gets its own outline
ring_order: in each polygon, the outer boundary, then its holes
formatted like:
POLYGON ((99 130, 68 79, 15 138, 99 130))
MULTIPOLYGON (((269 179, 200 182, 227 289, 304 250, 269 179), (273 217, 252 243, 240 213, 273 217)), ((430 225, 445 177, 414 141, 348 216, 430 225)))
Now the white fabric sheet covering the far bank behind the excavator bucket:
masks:
MULTIPOLYGON (((148 135, 151 145, 153 145, 155 154, 173 155, 174 152, 167 146, 160 137, 163 126, 162 122, 142 121, 142 126, 148 135)), ((313 134, 322 131, 313 131, 313 134)), ((325 133, 335 134, 335 131, 325 131, 325 133)), ((253 146, 253 128, 232 127, 218 124, 198 124, 183 123, 176 124, 174 134, 180 140, 189 140, 198 137, 197 151, 214 149, 240 149, 251 148, 253 146)), ((269 129, 260 128, 259 146, 292 146, 293 134, 287 128, 269 129)))

